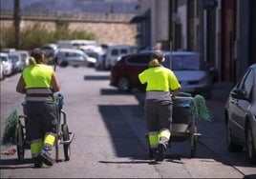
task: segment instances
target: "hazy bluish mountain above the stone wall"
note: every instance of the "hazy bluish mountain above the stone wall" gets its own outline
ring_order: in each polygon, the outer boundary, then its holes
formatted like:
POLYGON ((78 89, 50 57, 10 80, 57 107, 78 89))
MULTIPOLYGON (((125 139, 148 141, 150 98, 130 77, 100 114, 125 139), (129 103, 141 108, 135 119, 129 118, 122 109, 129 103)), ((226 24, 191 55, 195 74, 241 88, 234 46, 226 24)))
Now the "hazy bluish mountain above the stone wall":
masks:
MULTIPOLYGON (((13 10, 14 0, 0 0, 1 10, 13 10)), ((20 0, 21 10, 136 13, 137 0, 20 0)))

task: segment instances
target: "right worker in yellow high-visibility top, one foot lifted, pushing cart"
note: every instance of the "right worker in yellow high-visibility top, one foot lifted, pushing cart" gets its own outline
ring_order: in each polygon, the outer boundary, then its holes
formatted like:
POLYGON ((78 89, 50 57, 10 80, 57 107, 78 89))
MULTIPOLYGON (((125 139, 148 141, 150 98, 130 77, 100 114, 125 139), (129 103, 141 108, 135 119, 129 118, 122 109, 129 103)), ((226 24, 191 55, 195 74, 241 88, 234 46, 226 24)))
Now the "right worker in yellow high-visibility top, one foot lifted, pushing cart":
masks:
POLYGON ((181 85, 172 70, 164 68, 161 50, 153 51, 149 68, 139 73, 139 81, 146 84, 144 103, 148 140, 153 157, 163 161, 165 149, 171 136, 173 98, 181 85))

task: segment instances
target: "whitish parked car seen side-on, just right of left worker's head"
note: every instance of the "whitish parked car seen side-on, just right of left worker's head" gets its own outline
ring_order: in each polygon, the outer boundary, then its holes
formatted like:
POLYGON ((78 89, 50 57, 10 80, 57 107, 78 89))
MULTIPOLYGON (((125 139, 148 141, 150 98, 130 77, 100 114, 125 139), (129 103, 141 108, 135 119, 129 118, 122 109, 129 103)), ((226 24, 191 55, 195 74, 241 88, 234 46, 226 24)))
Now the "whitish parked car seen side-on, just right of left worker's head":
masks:
POLYGON ((69 65, 74 67, 92 67, 96 64, 96 58, 88 56, 82 50, 59 49, 57 51, 57 64, 60 67, 67 67, 69 65))

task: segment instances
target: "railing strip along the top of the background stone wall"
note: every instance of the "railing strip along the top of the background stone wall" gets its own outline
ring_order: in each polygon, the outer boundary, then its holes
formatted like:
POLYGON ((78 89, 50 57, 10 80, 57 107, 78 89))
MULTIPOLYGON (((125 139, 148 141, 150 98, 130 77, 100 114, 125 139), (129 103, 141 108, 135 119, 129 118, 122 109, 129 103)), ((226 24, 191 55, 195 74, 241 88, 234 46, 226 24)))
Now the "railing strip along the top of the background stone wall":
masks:
MULTIPOLYGON (((27 20, 69 20, 69 21, 95 21, 95 22, 130 22, 136 14, 123 13, 94 13, 71 12, 59 10, 21 10, 21 19, 27 20)), ((0 19, 13 19, 13 10, 1 10, 0 19)))

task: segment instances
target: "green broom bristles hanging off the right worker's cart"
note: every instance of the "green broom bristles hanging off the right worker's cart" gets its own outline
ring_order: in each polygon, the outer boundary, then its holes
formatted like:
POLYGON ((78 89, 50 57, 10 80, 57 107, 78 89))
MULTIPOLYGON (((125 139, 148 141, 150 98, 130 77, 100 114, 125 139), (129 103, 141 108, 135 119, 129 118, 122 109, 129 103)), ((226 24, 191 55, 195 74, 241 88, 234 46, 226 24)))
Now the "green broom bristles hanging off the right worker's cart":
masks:
POLYGON ((194 113, 198 119, 205 121, 212 121, 208 109, 205 105, 205 100, 202 95, 195 95, 194 97, 194 113))

